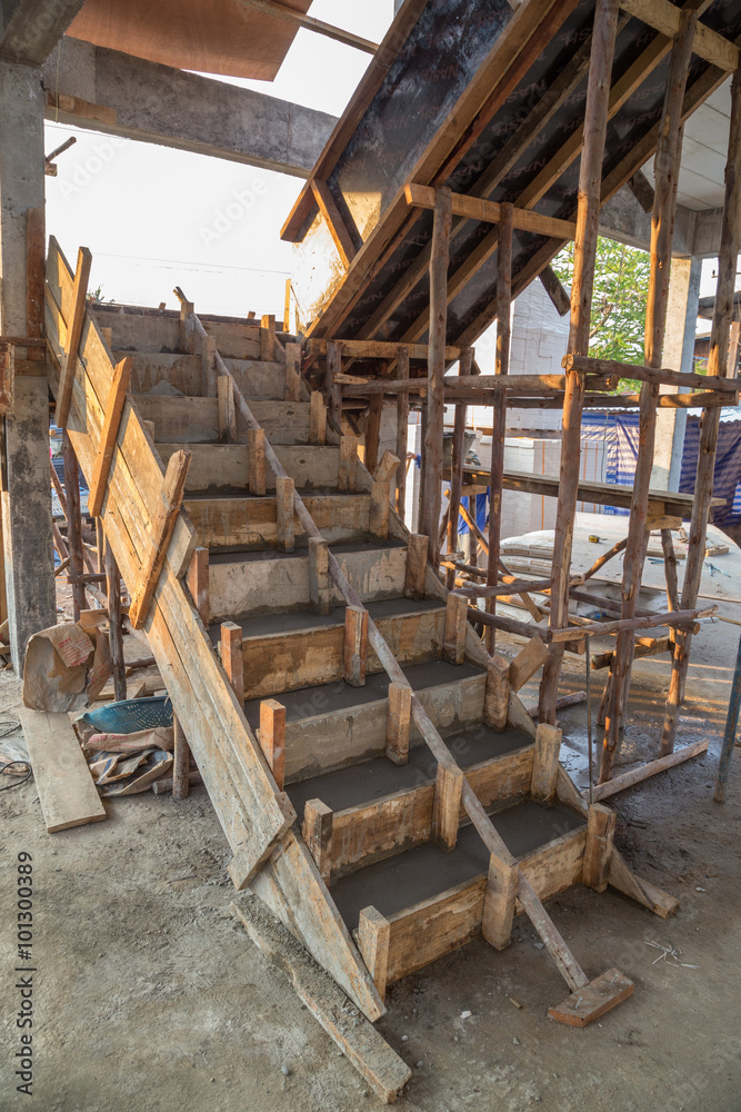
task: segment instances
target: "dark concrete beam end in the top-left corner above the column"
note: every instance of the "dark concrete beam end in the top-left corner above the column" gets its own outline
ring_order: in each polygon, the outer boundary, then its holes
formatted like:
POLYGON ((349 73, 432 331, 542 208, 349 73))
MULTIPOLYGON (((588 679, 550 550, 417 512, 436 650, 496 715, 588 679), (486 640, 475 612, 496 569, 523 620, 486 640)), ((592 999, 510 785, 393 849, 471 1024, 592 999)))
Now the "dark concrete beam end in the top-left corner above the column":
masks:
POLYGON ((84 0, 0 0, 0 60, 41 66, 84 0))

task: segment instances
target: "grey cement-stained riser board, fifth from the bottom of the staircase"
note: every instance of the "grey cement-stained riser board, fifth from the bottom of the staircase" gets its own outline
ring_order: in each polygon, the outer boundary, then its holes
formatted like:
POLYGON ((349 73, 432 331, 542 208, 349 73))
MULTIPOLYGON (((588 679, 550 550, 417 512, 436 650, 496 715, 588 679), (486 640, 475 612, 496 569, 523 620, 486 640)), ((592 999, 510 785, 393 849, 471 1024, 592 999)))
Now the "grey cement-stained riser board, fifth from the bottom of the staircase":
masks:
MULTIPOLYGON (((404 593, 405 548, 342 553, 338 563, 363 602, 398 598, 404 593)), ((309 599, 309 557, 211 564, 209 612, 212 622, 304 609, 309 599)), ((330 580, 330 602, 342 606, 343 597, 330 580)))

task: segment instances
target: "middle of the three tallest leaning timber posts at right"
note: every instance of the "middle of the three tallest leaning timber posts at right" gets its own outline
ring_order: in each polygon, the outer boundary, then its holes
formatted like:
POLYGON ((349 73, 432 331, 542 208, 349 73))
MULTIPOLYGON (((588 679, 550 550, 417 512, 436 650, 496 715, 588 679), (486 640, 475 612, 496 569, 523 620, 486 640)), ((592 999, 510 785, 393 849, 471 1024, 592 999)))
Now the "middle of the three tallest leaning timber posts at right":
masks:
MULTIPOLYGON (((654 368, 661 367, 667 327, 669 272, 674 238, 674 216, 677 214, 677 175, 682 150, 682 102, 697 22, 697 13, 682 12, 680 30, 674 37, 672 46, 669 82, 664 96, 654 160, 655 197, 651 214, 651 278, 645 310, 644 338, 645 365, 654 368)), ((659 386, 653 383, 643 383, 640 398, 638 457, 630 500, 628 544, 625 545, 622 573, 621 617, 623 618, 635 616, 645 550, 649 544, 647 528, 649 484, 653 467, 659 386)), ((620 727, 625 713, 634 644, 632 629, 623 629, 618 634, 608 678, 610 695, 600 762, 600 784, 610 780, 612 764, 619 748, 620 727)))

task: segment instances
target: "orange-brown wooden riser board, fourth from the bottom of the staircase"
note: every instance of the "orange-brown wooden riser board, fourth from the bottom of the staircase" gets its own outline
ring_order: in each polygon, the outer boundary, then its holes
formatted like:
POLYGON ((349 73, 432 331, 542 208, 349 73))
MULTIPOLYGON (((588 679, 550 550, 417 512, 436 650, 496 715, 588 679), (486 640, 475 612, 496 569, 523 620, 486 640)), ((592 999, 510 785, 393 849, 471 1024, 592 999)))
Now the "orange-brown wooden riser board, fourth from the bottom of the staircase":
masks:
MULTIPOLYGON (((368 610, 402 666, 440 656, 445 607, 437 599, 383 599, 369 603, 368 610)), ((336 607, 327 615, 292 610, 240 622, 246 698, 342 679, 344 617, 344 607, 336 607)), ((218 641, 218 625, 211 626, 211 637, 218 641)), ((380 671, 369 646, 367 672, 380 671)))

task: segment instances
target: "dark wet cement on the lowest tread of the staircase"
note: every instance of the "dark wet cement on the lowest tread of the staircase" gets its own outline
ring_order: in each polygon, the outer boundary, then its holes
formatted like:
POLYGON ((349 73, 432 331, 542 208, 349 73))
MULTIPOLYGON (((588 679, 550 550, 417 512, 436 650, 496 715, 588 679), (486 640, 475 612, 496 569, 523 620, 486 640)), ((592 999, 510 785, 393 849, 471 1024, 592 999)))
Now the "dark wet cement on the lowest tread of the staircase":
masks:
MULTIPOLYGON (((494 820, 498 833, 515 857, 523 857, 553 838, 584 826, 584 822, 560 807, 541 807, 532 800, 500 811, 494 820)), ((433 842, 387 857, 332 884, 331 893, 350 930, 369 904, 382 915, 395 915, 422 900, 472 881, 489 870, 489 852, 475 827, 459 831, 455 848, 447 853, 433 842)))

